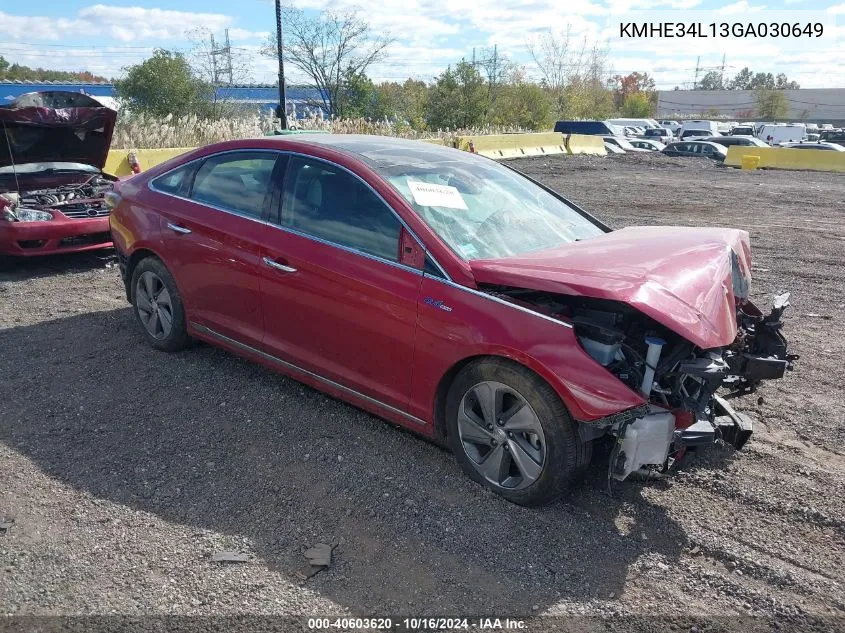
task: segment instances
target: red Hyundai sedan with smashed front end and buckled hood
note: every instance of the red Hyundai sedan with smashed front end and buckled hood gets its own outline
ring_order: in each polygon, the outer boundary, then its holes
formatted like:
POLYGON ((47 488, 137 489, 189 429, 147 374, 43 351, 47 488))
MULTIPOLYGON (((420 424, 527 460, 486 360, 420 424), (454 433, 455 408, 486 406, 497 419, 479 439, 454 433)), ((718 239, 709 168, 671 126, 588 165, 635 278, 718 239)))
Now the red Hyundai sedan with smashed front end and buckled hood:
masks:
POLYGON ((546 503, 614 436, 610 474, 665 468, 781 378, 781 296, 748 298, 748 234, 611 230, 503 164, 417 141, 222 143, 117 186, 128 300, 156 348, 190 337, 448 445, 546 503))

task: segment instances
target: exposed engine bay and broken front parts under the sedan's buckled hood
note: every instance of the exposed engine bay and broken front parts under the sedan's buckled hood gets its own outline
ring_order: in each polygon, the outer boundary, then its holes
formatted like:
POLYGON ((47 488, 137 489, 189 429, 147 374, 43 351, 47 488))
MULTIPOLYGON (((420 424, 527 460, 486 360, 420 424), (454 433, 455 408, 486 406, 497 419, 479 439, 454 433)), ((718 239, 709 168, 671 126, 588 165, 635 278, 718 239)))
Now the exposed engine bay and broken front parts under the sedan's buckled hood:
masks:
POLYGON ((700 349, 624 303, 511 287, 486 290, 572 323, 584 350, 647 398, 650 412, 622 422, 601 421, 604 433, 619 438, 612 458, 617 479, 642 465, 662 464, 670 451, 681 454, 716 439, 741 448, 751 434, 750 420, 730 409, 717 391, 724 389, 730 397, 753 390, 761 380, 781 378, 798 358, 786 352, 781 333, 788 293, 775 298, 766 316, 738 297, 736 340, 700 349), (668 439, 667 425, 673 429, 668 439))

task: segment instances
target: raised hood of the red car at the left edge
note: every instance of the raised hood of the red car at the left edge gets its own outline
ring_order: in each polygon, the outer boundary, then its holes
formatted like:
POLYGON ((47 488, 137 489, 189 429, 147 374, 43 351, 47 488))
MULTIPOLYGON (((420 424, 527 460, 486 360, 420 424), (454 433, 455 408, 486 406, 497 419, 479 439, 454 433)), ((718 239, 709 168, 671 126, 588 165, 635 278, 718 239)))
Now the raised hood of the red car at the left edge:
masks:
POLYGON ((0 106, 0 167, 70 162, 102 169, 116 119, 114 110, 82 93, 21 95, 0 106))

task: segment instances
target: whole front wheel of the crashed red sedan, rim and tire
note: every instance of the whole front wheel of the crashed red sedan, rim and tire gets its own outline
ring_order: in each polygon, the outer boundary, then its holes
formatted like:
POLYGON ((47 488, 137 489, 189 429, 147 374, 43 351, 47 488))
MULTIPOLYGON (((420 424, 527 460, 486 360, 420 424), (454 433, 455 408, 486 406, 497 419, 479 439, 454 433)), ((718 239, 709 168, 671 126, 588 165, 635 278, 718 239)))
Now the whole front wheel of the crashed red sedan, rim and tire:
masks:
POLYGON ((467 365, 446 400, 448 441, 475 481, 520 505, 553 501, 576 483, 591 456, 554 390, 503 359, 467 365))

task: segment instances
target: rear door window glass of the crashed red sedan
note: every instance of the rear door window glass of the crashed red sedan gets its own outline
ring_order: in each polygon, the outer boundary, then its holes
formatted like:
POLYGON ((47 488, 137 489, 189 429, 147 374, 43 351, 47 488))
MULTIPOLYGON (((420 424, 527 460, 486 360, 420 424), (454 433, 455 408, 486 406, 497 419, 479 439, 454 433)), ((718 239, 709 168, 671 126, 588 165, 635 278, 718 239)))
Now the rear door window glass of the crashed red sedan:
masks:
POLYGON ((260 219, 277 157, 273 152, 211 156, 197 170, 191 200, 260 219))

